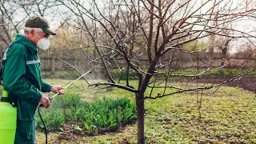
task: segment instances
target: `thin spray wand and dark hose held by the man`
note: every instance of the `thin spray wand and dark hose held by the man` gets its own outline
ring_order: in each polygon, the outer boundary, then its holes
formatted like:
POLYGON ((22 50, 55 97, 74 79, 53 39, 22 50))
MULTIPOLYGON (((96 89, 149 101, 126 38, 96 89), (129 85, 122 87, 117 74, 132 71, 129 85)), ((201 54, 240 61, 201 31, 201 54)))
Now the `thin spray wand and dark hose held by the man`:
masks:
MULTIPOLYGON (((74 82, 77 82, 78 79, 82 78, 83 76, 85 76, 86 74, 89 74, 89 73, 91 73, 90 70, 87 71, 85 74, 82 74, 79 78, 77 78, 77 79, 74 80, 73 82, 70 82, 70 84, 68 84, 66 87, 64 87, 64 89, 70 87, 71 85, 74 84, 74 82)), ((52 96, 51 98, 49 98, 49 99, 50 99, 50 102, 51 102, 51 100, 54 99, 58 94, 59 94, 59 93, 54 94, 54 96, 52 96)), ((40 119, 41 119, 41 121, 42 121, 42 125, 44 126, 44 130, 45 130, 45 134, 46 134, 46 144, 47 144, 47 143, 48 143, 48 142, 47 142, 47 130, 46 130, 46 124, 45 124, 45 122, 43 122, 42 115, 41 115, 41 113, 40 113, 40 108, 41 108, 41 107, 42 107, 42 104, 40 104, 40 105, 38 106, 38 114, 39 114, 39 117, 40 117, 40 119)))

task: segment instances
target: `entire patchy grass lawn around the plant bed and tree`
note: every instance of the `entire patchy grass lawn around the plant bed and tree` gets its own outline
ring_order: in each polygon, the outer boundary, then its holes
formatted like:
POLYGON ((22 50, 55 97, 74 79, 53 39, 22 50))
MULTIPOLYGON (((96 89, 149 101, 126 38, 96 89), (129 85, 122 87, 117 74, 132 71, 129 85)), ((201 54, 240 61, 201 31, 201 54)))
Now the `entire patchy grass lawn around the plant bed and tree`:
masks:
MULTIPOLYGON (((46 80, 66 86, 68 80, 46 80)), ((136 85, 136 82, 132 82, 136 85)), ((178 84, 174 84, 178 85, 178 84)), ((189 86, 196 86, 191 84, 189 86)), ((161 93, 153 91, 153 95, 161 93)), ((171 90, 169 90, 171 91, 171 90)), ((66 90, 66 94, 80 94, 85 102, 97 98, 127 97, 134 101, 134 94, 114 88, 88 90, 84 81, 78 81, 66 90)), ((150 90, 146 91, 146 95, 150 90)), ((50 94, 53 95, 53 94, 50 94)), ((156 100, 146 99, 145 136, 146 143, 255 143, 256 142, 256 99, 255 94, 239 87, 222 86, 214 95, 210 90, 186 92, 156 100), (198 100, 202 98, 200 114, 198 100)), ((38 117, 38 115, 37 115, 38 117)), ((136 123, 97 136, 82 136, 50 132, 49 143, 136 143, 136 123), (70 135, 70 137, 68 136, 70 135), (58 140, 58 141, 57 141, 58 140)), ((44 134, 37 131, 37 142, 44 143, 44 134)))

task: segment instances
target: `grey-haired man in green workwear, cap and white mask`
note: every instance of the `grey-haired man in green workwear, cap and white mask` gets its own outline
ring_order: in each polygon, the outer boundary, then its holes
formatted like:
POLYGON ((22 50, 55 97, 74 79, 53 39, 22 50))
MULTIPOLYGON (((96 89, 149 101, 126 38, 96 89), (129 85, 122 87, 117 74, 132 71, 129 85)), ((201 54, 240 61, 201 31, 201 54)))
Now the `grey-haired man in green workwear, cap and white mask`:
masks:
POLYGON ((10 103, 17 106, 17 128, 15 142, 34 143, 34 114, 40 102, 50 106, 47 94, 63 94, 62 86, 51 86, 42 81, 38 50, 50 46, 48 37, 55 35, 45 18, 29 18, 25 25, 25 35, 17 34, 2 59, 3 88, 8 92, 10 103))

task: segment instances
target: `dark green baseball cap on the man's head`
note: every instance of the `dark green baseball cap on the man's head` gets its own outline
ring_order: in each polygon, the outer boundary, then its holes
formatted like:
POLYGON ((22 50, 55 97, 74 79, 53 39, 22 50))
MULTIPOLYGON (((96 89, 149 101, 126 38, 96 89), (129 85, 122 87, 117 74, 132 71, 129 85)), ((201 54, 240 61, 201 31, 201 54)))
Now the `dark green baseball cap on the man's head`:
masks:
POLYGON ((31 17, 26 21, 26 27, 30 28, 41 28, 46 34, 55 35, 53 30, 50 30, 49 23, 46 18, 41 16, 31 17))

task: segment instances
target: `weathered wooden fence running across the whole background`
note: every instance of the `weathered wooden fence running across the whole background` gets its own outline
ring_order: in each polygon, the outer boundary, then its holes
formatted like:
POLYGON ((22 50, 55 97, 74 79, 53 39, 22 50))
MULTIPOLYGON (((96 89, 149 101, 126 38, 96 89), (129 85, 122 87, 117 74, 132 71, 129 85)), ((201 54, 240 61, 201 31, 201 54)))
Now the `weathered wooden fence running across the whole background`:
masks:
MULTIPOLYGON (((2 55, 4 54, 6 47, 0 47, 0 58, 2 59, 2 55)), ((222 54, 214 54, 209 56, 207 53, 195 53, 195 54, 186 54, 186 53, 178 53, 173 54, 174 51, 170 51, 170 54, 166 54, 164 58, 160 61, 163 65, 168 66, 170 62, 171 55, 175 55, 174 59, 177 60, 175 65, 172 68, 179 67, 190 67, 190 68, 204 68, 204 65, 199 58, 202 60, 206 60, 207 62, 211 62, 215 65, 219 65, 222 62, 222 54), (169 57, 169 58, 168 58, 169 57), (211 58, 211 59, 210 59, 211 58)), ((92 68, 92 64, 90 64, 90 55, 94 54, 94 50, 91 48, 82 49, 70 49, 70 50, 62 50, 62 49, 50 49, 50 50, 38 50, 38 54, 41 61, 41 69, 42 69, 42 78, 76 78, 78 77, 77 71, 86 71, 92 68)), ((230 62, 226 68, 238 68, 248 57, 248 54, 244 55, 234 55, 233 57, 226 58, 226 63, 230 62)), ((142 68, 147 67, 149 65, 148 60, 146 58, 139 58, 139 65, 142 68)), ((120 60, 120 59, 119 59, 120 60)), ((124 66, 125 62, 121 59, 122 62, 119 62, 120 66, 124 66)), ((248 62, 255 62, 255 56, 248 58, 248 62)), ((101 66, 93 66, 94 68, 94 76, 95 78, 102 78, 102 67, 101 66), (100 76, 99 76, 100 75, 100 76)), ((110 69, 117 69, 116 66, 110 65, 110 69)))

